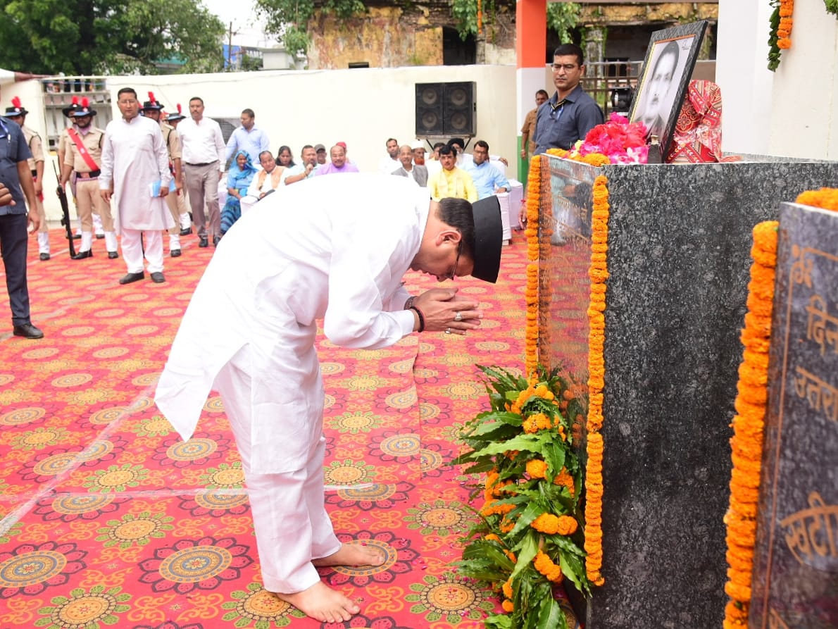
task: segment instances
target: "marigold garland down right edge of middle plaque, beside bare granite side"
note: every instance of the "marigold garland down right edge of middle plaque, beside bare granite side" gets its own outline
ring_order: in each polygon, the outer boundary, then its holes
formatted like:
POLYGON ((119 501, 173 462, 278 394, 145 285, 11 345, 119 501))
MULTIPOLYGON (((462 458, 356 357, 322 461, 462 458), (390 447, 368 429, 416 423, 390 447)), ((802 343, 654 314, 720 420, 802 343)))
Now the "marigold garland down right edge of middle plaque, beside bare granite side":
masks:
POLYGON ((605 387, 605 294, 608 280, 608 178, 593 182, 591 304, 588 317, 587 465, 585 468, 585 570, 603 585, 603 387, 605 387))

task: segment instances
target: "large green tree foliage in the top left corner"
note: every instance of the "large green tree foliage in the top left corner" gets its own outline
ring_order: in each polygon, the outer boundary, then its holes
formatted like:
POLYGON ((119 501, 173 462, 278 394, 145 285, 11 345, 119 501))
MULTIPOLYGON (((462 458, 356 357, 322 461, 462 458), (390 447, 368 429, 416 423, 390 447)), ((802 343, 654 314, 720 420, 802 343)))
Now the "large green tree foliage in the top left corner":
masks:
POLYGON ((223 65, 224 24, 192 0, 0 0, 0 67, 39 74, 159 74, 223 65))

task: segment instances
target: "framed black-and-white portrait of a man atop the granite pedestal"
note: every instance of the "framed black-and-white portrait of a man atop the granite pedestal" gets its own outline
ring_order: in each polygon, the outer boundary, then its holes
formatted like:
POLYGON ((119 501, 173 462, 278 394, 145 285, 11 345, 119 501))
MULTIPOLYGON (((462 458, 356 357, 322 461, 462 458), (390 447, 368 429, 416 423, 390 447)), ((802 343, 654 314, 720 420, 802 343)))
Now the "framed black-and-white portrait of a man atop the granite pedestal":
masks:
POLYGON ((669 148, 706 28, 701 20, 655 31, 649 39, 629 120, 644 122, 647 142, 658 136, 661 155, 669 148))

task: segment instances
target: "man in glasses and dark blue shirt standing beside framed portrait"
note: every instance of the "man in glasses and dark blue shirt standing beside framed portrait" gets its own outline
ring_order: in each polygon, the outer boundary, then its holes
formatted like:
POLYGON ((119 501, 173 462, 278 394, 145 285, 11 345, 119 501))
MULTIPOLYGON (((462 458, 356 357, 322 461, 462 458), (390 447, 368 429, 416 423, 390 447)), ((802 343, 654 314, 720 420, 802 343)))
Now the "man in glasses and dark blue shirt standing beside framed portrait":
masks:
POLYGON ((556 93, 538 108, 535 138, 532 138, 536 145, 533 154, 545 153, 548 148, 571 148, 593 127, 605 122, 603 110, 579 85, 584 74, 579 46, 561 44, 553 51, 556 93))

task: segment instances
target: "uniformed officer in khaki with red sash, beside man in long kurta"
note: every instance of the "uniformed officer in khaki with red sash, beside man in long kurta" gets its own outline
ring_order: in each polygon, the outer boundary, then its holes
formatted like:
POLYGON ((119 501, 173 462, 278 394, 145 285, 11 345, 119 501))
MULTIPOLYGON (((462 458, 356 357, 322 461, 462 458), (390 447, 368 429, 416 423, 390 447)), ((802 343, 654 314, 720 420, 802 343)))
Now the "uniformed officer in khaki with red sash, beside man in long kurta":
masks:
POLYGON ((102 142, 105 132, 92 125, 96 111, 91 109, 86 98, 81 100, 81 106, 70 112, 75 122, 75 128, 67 130, 65 141, 65 159, 61 164, 61 181, 63 187, 75 171, 75 200, 81 219, 81 244, 79 252, 73 256, 74 260, 84 260, 93 256, 93 213, 101 217, 102 228, 105 231, 105 247, 107 257, 116 258, 116 232, 111 217, 111 204, 102 199, 99 194, 99 178, 101 168, 102 142))

